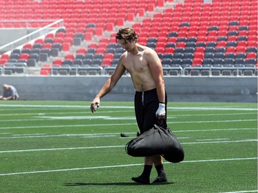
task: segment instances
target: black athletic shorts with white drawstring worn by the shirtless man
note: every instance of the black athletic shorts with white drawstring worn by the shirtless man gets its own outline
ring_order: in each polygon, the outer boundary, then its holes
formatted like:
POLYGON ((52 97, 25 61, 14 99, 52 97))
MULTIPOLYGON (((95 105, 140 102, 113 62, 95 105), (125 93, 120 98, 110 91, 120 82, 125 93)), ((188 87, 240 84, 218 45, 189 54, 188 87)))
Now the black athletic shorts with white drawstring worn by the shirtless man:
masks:
MULTIPOLYGON (((167 102, 167 96, 165 94, 165 104, 167 102)), ((140 129, 140 133, 144 133, 153 127, 154 124, 160 125, 166 128, 166 117, 164 120, 158 119, 155 115, 158 110, 159 101, 157 95, 157 89, 151 89, 149 91, 136 91, 134 96, 134 109, 136 113, 136 121, 140 129)), ((166 110, 166 109, 165 109, 166 110)))

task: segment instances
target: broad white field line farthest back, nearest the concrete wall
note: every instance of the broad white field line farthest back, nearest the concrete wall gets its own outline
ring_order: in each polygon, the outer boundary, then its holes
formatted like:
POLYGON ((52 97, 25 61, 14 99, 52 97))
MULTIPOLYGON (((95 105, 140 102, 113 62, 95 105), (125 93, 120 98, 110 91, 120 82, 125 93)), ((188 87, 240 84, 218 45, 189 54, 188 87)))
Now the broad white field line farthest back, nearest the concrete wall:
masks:
MULTIPOLYGON (((44 107, 44 108, 80 108, 87 109, 89 106, 83 105, 40 105, 40 104, 0 104, 0 107, 44 107)), ((101 106, 101 109, 134 109, 134 106, 101 106)), ((257 109, 252 108, 229 108, 229 107, 167 107, 167 109, 178 109, 178 110, 218 110, 218 111, 257 111, 257 109)))

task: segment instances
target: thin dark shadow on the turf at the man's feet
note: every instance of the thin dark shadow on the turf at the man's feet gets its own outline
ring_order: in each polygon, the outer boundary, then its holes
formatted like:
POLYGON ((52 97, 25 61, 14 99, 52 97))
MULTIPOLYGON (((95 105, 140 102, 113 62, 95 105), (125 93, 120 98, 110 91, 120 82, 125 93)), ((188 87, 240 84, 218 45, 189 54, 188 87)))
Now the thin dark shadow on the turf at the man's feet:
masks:
MULTIPOLYGON (((165 182, 165 183, 151 183, 150 185, 163 185, 163 184, 173 184, 173 182, 165 182)), ((127 183, 64 183, 64 186, 80 186, 80 185, 144 185, 135 182, 127 182, 127 183)))

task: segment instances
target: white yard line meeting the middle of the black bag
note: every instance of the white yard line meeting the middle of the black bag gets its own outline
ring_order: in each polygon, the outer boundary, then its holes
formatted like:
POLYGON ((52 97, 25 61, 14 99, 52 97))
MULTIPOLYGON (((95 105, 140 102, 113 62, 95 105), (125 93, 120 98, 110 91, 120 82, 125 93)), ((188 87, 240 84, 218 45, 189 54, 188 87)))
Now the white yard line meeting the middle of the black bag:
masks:
MULTIPOLYGON (((241 142, 254 142, 258 139, 244 139, 244 140, 235 140, 235 141, 200 141, 200 142, 184 142, 182 145, 195 145, 195 144, 220 144, 220 143, 241 143, 241 142)), ((77 147, 77 148, 45 148, 45 149, 30 149, 30 150, 3 150, 0 153, 4 152, 34 152, 34 151, 51 151, 51 150, 82 150, 82 149, 94 149, 94 148, 125 148, 125 145, 122 146, 94 146, 94 147, 77 147)))

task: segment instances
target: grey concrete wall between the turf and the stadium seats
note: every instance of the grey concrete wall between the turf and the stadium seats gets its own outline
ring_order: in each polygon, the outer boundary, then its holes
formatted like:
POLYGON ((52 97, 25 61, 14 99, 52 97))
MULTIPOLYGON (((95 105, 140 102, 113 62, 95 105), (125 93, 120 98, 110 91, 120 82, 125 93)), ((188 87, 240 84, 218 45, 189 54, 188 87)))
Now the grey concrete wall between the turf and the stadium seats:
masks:
MULTIPOLYGON (((92 100, 107 76, 0 76, 21 100, 92 100)), ((164 77, 171 102, 257 102, 255 77, 164 77)), ((103 100, 133 100, 131 78, 123 76, 103 100)), ((1 93, 1 92, 0 92, 1 93)))

